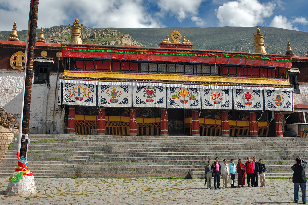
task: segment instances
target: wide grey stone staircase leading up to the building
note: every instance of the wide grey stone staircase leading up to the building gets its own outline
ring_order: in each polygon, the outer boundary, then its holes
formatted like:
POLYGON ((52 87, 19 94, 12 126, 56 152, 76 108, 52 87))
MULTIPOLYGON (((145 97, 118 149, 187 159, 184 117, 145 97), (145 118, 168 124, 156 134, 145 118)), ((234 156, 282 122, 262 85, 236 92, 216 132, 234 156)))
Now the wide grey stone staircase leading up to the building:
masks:
MULTIPOLYGON (((263 159, 266 177, 292 176, 296 157, 308 161, 306 138, 99 136, 30 134, 28 168, 36 177, 185 177, 207 160, 263 159)), ((17 166, 16 141, 0 162, 0 176, 17 166)))

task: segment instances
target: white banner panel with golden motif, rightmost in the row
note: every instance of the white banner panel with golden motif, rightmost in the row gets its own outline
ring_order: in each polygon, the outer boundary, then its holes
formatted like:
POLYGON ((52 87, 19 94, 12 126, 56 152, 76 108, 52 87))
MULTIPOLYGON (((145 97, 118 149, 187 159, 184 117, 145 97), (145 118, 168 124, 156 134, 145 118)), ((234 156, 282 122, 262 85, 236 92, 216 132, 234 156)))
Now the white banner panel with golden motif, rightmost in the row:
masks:
POLYGON ((265 90, 265 110, 270 111, 293 111, 293 92, 265 90))

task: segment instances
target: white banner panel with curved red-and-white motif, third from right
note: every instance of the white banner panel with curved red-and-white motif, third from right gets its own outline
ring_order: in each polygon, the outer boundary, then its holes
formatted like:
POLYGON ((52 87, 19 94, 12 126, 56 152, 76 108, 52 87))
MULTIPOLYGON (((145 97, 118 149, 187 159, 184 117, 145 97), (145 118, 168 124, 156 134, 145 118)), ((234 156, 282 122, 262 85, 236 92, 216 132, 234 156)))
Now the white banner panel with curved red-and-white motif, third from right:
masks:
POLYGON ((202 109, 231 110, 231 89, 201 89, 202 109))

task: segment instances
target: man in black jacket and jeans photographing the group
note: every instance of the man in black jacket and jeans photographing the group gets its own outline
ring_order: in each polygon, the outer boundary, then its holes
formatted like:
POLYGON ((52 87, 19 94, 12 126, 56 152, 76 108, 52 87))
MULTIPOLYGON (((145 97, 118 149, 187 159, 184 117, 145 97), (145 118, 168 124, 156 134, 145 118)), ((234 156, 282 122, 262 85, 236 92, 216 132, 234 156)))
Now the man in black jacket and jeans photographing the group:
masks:
POLYGON ((307 162, 301 158, 295 159, 295 164, 291 167, 294 171, 293 173, 293 179, 292 182, 294 183, 294 202, 298 202, 298 189, 299 186, 301 186, 302 190, 302 201, 305 204, 307 201, 306 197, 306 175, 305 175, 305 168, 306 168, 307 162), (303 163, 301 163, 301 161, 303 163))

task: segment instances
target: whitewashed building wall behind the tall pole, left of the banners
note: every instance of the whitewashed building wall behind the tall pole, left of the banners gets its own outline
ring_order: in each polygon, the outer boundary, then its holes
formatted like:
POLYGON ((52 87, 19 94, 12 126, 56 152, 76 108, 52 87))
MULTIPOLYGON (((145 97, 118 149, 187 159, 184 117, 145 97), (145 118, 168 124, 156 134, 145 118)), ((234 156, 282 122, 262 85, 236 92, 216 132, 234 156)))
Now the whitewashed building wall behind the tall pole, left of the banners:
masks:
MULTIPOLYGON (((63 75, 63 73, 60 73, 63 75)), ((43 133, 43 128, 63 133, 64 112, 61 111, 57 102, 55 104, 54 118, 53 107, 55 102, 57 73, 50 73, 50 87, 47 84, 32 84, 30 129, 29 132, 43 133), (54 123, 53 123, 54 122, 54 123)), ((0 71, 0 107, 20 120, 22 106, 22 88, 24 71, 0 71)), ((57 98, 58 94, 56 95, 57 98)), ((45 131, 45 130, 44 130, 45 131)))

